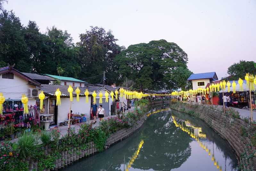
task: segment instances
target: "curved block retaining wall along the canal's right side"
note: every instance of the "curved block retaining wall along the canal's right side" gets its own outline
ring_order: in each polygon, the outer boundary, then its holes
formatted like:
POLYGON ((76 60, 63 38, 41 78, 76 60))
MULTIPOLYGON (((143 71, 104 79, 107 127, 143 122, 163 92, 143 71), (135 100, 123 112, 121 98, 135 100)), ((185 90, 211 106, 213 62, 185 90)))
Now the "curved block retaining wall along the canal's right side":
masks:
POLYGON ((209 105, 171 102, 170 108, 202 119, 235 150, 241 170, 256 170, 256 148, 251 142, 254 128, 247 120, 240 119, 234 111, 225 114, 209 105))

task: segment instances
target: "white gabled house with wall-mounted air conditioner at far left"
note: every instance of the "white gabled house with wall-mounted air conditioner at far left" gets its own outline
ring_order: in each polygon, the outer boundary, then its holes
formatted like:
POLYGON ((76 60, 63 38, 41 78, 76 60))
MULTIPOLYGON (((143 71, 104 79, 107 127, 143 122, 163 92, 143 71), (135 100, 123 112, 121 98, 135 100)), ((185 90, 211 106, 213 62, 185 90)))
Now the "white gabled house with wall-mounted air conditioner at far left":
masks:
POLYGON ((0 68, 0 92, 5 97, 4 108, 12 108, 17 104, 21 107, 21 95, 25 94, 29 98, 28 105, 34 106, 38 97, 38 89, 41 84, 24 75, 12 67, 0 68))

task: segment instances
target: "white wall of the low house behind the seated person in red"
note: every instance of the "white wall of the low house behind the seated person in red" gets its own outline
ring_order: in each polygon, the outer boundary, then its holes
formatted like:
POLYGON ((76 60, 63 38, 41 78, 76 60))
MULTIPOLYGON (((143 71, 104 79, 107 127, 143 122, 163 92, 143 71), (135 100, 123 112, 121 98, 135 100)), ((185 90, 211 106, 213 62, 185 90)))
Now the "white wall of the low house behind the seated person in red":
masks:
MULTIPOLYGON (((70 98, 61 98, 61 105, 58 105, 58 118, 57 125, 64 122, 68 118, 70 107, 70 98)), ((85 96, 79 96, 79 102, 77 102, 76 97, 73 97, 73 102, 71 102, 71 110, 73 113, 84 113, 90 116, 91 108, 91 97, 88 97, 88 103, 85 102, 85 96)), ((88 116, 88 115, 87 115, 88 116)))

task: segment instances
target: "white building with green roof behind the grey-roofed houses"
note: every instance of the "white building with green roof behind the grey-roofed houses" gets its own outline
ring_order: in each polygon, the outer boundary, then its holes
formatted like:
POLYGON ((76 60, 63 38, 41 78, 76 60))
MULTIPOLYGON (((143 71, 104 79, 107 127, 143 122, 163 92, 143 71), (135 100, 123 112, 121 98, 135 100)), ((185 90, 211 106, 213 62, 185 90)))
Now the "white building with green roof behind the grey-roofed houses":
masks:
POLYGON ((58 79, 61 81, 61 85, 71 85, 73 87, 84 87, 85 84, 87 84, 86 81, 82 81, 72 77, 62 77, 62 76, 50 75, 50 74, 44 74, 43 76, 46 76, 52 79, 58 79))

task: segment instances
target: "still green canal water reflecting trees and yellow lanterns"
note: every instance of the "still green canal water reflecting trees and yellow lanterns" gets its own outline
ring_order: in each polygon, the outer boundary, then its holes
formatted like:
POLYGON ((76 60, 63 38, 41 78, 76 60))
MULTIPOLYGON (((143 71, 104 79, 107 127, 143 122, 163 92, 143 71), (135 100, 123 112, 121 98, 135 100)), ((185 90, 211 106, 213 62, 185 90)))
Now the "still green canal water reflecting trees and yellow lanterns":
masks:
POLYGON ((225 140, 198 118, 170 110, 168 106, 153 106, 143 126, 132 136, 64 170, 220 169, 238 170, 235 155, 225 140), (186 132, 187 129, 190 134, 186 132))

